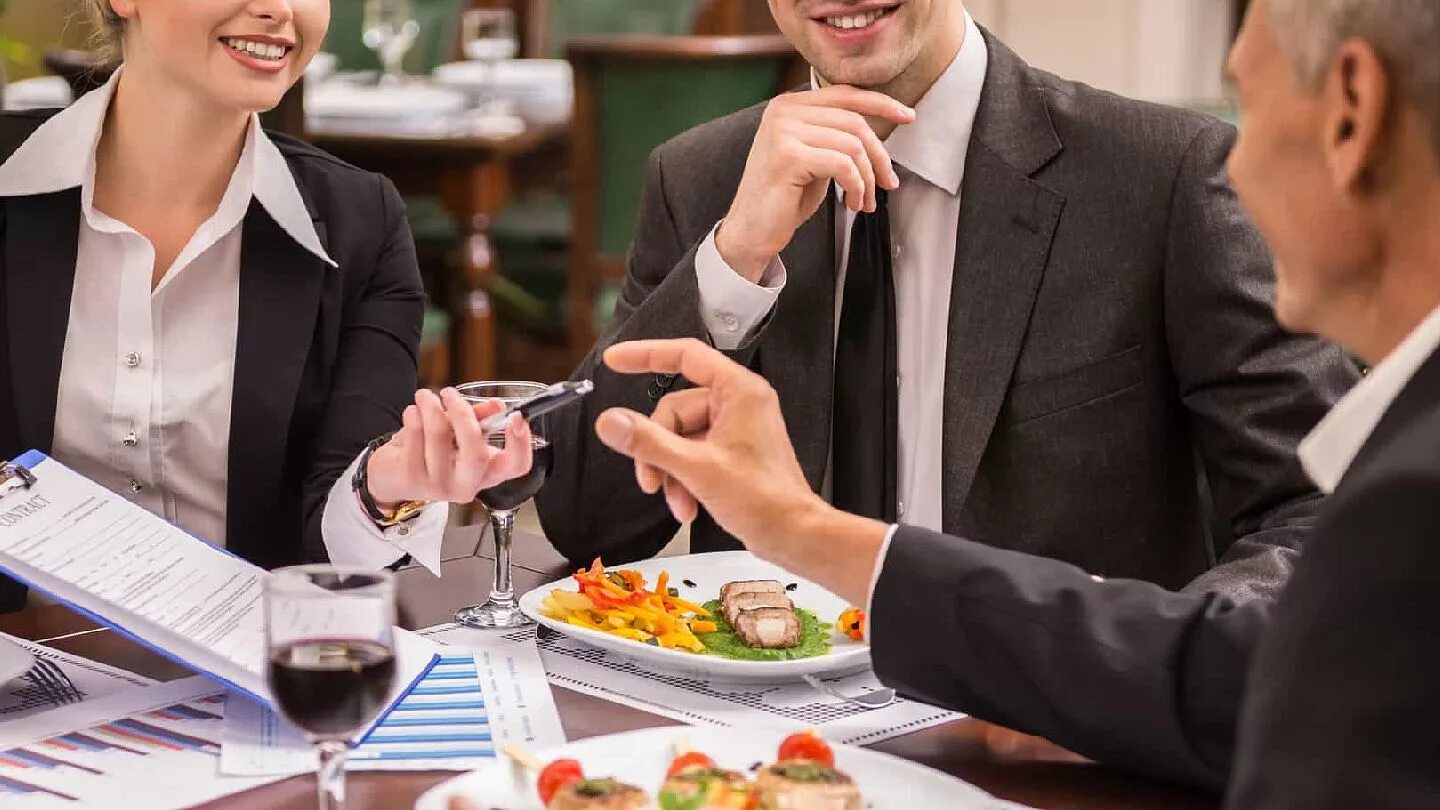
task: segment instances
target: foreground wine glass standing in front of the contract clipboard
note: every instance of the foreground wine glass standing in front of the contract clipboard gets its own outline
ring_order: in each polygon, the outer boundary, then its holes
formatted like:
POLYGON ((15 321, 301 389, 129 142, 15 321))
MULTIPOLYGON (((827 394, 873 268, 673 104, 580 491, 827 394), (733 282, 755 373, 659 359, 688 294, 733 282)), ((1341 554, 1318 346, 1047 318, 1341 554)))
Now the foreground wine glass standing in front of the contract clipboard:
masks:
POLYGON ((265 579, 266 680, 279 712, 320 754, 318 806, 346 801, 346 751, 395 680, 389 571, 298 565, 265 579))

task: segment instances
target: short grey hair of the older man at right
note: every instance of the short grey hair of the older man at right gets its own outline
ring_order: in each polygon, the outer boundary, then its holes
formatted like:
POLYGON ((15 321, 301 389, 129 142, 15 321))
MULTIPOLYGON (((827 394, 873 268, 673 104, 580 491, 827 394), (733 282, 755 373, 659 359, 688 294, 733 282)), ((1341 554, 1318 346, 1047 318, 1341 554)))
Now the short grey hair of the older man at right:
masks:
POLYGON ((1300 84, 1315 89, 1348 39, 1368 42, 1397 84, 1398 95, 1430 127, 1440 153, 1440 1, 1270 0, 1276 35, 1300 84))

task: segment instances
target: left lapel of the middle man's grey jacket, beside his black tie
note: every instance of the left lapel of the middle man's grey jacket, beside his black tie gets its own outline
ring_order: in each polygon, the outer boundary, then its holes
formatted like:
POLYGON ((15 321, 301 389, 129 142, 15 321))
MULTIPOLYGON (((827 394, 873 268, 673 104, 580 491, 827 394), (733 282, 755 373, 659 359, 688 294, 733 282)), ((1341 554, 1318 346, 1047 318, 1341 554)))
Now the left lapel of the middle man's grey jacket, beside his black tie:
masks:
POLYGON ((829 457, 835 365, 835 195, 827 193, 780 254, 788 280, 759 347, 795 453, 819 491, 829 457))

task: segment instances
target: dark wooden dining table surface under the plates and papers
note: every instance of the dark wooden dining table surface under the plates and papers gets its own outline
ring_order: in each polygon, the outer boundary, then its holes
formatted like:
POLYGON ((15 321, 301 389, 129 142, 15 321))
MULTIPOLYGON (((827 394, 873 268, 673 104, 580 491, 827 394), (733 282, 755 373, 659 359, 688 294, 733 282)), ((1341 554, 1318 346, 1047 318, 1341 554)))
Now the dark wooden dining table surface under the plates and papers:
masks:
MULTIPOLYGON (((425 627, 449 621, 454 610, 488 592, 492 562, 468 556, 480 528, 452 530, 446 538, 444 579, 423 569, 399 575, 402 623, 425 627)), ((516 588, 541 585, 563 575, 563 561, 544 539, 517 533, 516 588)), ((120 666, 156 679, 187 675, 179 666, 94 626, 62 607, 45 607, 0 617, 0 630, 120 666), (71 636, 81 633, 78 636, 71 636), (68 637, 66 637, 68 636, 68 637)), ((553 687, 560 721, 570 739, 674 725, 672 721, 553 687)), ((1048 742, 973 719, 888 739, 874 747, 955 774, 996 796, 1045 810, 1212 810, 1208 796, 1112 771, 1080 760, 1048 742)), ((449 778, 448 773, 353 773, 348 807, 380 810, 410 807, 420 793, 449 778)), ((312 777, 295 777, 212 803, 216 810, 310 810, 312 777)), ((919 809, 917 809, 919 810, 919 809)), ((929 809, 926 809, 929 810, 929 809)), ((936 809, 939 810, 939 809, 936 809)))

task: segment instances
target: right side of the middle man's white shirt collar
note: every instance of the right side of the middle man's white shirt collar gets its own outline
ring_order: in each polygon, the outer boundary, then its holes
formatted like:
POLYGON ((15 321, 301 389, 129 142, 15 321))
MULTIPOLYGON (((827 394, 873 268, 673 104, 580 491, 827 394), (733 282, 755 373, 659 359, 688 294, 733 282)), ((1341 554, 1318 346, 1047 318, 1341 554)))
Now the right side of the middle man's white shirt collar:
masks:
MULTIPOLYGON (((914 105, 914 124, 896 127, 886 138, 890 159, 932 186, 958 195, 988 66, 989 48, 966 12, 960 50, 914 105)), ((819 86, 814 68, 811 86, 819 86)))

